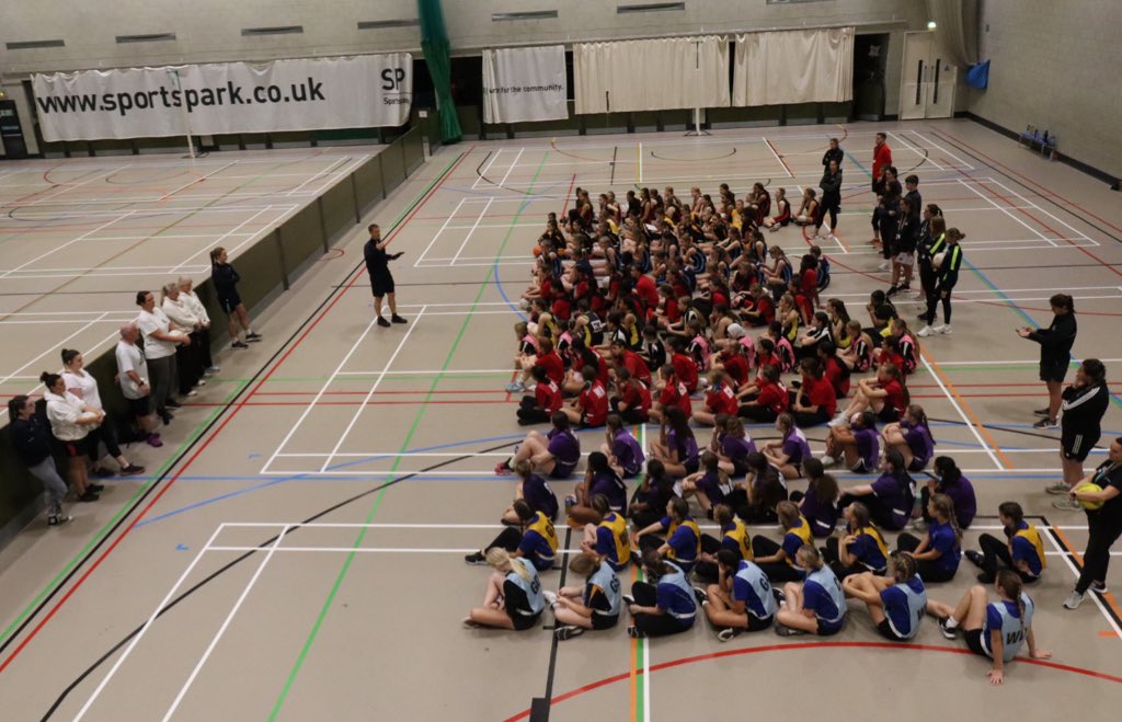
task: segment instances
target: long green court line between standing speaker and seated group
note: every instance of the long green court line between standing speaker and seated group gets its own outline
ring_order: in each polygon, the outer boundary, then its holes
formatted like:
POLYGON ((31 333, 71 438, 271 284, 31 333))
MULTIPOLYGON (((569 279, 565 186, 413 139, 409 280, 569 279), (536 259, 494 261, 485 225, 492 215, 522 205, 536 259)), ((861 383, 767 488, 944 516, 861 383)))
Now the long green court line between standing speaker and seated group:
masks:
MULTIPOLYGON (((542 168, 545 165, 545 160, 546 158, 549 158, 549 155, 550 151, 546 151, 542 156, 542 160, 537 165, 537 169, 534 173, 534 177, 530 180, 530 186, 526 188, 527 192, 533 189, 534 184, 537 182, 537 176, 541 174, 542 168)), ((511 235, 514 233, 515 229, 514 224, 517 222, 518 217, 522 215, 523 211, 525 211, 526 206, 528 205, 530 205, 530 200, 527 198, 518 206, 518 211, 516 212, 514 219, 512 220, 511 226, 507 229, 506 235, 503 239, 503 244, 499 247, 498 251, 495 254, 496 260, 503 256, 503 251, 506 249, 507 243, 511 241, 511 235)), ((425 398, 421 401, 421 408, 417 409, 416 416, 413 419, 413 424, 410 426, 410 429, 405 435, 405 441, 402 444, 401 452, 404 453, 406 450, 408 450, 410 445, 413 443, 413 435, 416 433, 417 427, 421 425, 421 419, 424 418, 425 411, 427 411, 429 409, 429 402, 432 399, 433 391, 435 391, 436 387, 440 386, 440 382, 444 377, 444 372, 448 371, 449 365, 451 365, 452 358, 456 355, 456 351, 457 349, 459 349, 460 342, 463 340, 463 334, 468 330, 468 324, 471 322, 471 317, 475 315, 476 308, 479 306, 479 302, 482 298, 484 293, 490 285, 490 280, 494 274, 495 274, 495 267, 491 266, 491 268, 488 269, 487 271, 487 278, 484 279, 484 283, 479 285, 479 290, 476 291, 476 297, 471 302, 470 308, 468 308, 468 314, 465 316, 463 323, 460 324, 460 331, 456 334, 456 339, 452 341, 452 348, 449 350, 448 355, 444 358, 444 363, 441 367, 440 372, 438 373, 436 378, 433 379, 432 385, 429 387, 429 391, 425 395, 425 398)), ((401 463, 402 463, 402 457, 398 456, 398 459, 394 462, 393 468, 386 473, 386 481, 393 479, 393 476, 397 473, 397 468, 401 463)), ((370 521, 374 519, 375 515, 378 512, 378 509, 381 507, 381 501, 385 498, 386 491, 388 491, 388 487, 384 487, 381 491, 378 492, 378 496, 375 498, 370 511, 366 515, 366 520, 364 521, 364 524, 370 524, 370 521)), ((355 539, 355 544, 352 545, 352 550, 348 553, 347 559, 343 562, 342 568, 339 570, 339 575, 335 577, 334 584, 331 585, 331 591, 328 592, 328 599, 323 602, 323 607, 320 609, 320 613, 315 618, 315 623, 312 624, 312 629, 311 631, 309 631, 307 639, 304 640, 304 646, 301 648, 300 655, 296 657, 296 661, 293 664, 292 670, 288 673, 287 679, 285 679, 284 687, 280 689, 280 695, 277 697, 276 703, 273 705, 273 711, 269 712, 269 718, 268 718, 269 722, 276 720, 277 715, 280 713, 280 707, 284 706, 285 701, 288 698, 288 694, 292 691, 293 683, 296 681, 296 676, 300 674, 301 668, 304 666, 304 661, 307 658, 307 652, 311 650, 312 644, 315 641, 315 638, 320 633, 320 629, 323 626, 323 620, 327 618, 328 612, 331 609, 331 605, 334 603, 335 595, 339 593, 339 589, 340 586, 342 586, 343 580, 346 578, 348 572, 350 571, 351 563, 353 562, 355 556, 357 555, 356 549, 358 549, 361 546, 362 540, 366 538, 368 529, 369 527, 364 527, 362 530, 359 533, 358 538, 355 539)))

